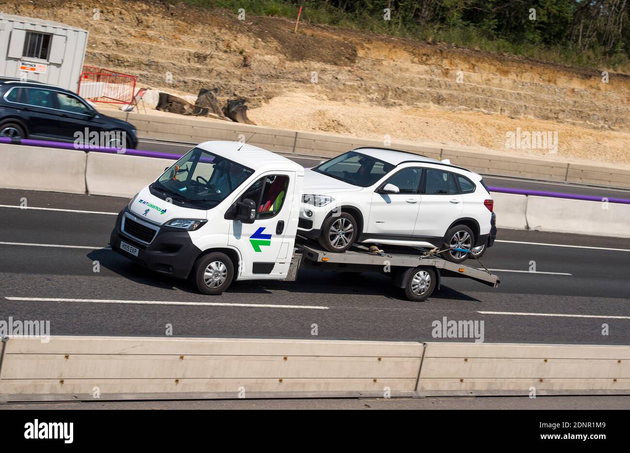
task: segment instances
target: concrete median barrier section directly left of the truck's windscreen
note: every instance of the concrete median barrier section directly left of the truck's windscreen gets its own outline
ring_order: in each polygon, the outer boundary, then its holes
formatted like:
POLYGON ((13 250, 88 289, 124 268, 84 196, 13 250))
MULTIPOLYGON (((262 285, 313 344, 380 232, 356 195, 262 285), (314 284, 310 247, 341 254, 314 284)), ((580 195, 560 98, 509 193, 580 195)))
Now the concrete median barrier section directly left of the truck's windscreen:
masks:
POLYGON ((166 159, 89 152, 87 191, 92 195, 132 197, 171 165, 173 161, 166 159))

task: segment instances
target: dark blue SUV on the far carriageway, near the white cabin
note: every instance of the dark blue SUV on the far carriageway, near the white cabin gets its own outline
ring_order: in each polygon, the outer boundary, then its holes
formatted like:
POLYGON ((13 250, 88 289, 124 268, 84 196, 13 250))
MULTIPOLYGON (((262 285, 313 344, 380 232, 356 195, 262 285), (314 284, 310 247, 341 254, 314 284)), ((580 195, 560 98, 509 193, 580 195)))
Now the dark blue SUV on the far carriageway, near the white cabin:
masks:
POLYGON ((72 91, 0 78, 0 136, 135 148, 132 124, 97 112, 72 91))

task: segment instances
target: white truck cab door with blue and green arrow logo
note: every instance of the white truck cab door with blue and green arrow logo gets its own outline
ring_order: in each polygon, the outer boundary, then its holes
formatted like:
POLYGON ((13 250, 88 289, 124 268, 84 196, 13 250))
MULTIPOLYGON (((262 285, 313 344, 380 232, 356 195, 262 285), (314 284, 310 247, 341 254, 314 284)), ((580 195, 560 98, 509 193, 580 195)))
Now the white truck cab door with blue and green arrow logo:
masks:
POLYGON ((227 244, 241 252, 237 279, 287 276, 295 242, 295 227, 289 228, 294 191, 294 172, 273 172, 255 180, 234 198, 233 203, 251 199, 256 206, 253 223, 230 221, 227 244))

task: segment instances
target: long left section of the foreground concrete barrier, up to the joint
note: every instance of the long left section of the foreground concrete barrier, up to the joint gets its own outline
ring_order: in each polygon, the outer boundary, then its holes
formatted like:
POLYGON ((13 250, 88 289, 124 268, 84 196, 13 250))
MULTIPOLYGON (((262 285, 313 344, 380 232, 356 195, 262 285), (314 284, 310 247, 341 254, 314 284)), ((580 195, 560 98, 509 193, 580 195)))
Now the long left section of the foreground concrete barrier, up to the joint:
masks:
POLYGON ((226 338, 9 338, 4 399, 413 396, 418 343, 226 338), (8 395, 8 397, 6 397, 8 395))

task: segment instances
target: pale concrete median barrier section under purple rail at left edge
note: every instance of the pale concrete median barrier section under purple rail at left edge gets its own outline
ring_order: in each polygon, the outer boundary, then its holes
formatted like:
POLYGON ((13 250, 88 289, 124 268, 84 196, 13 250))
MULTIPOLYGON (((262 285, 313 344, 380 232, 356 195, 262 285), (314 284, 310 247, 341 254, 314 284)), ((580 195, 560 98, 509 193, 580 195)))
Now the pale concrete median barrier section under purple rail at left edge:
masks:
POLYGON ((83 151, 0 144, 0 188, 30 191, 86 191, 83 151))

